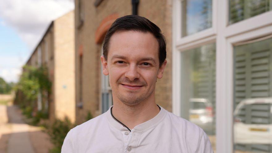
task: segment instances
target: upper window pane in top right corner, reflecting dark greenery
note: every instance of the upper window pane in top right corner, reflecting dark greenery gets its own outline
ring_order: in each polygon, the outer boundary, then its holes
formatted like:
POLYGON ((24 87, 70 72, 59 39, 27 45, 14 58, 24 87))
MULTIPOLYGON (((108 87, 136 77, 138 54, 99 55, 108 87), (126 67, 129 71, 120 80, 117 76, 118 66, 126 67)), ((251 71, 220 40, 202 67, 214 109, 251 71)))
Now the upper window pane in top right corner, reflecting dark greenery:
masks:
POLYGON ((229 0, 229 24, 272 10, 271 0, 229 0))

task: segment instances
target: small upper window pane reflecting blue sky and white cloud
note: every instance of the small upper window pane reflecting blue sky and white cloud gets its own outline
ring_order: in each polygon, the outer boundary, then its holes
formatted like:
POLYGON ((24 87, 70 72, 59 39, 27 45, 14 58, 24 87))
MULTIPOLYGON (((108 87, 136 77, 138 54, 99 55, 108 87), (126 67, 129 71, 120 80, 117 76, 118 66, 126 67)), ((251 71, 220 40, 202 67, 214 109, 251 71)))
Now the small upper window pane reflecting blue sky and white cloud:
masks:
POLYGON ((182 37, 211 27, 212 0, 182 1, 182 37))

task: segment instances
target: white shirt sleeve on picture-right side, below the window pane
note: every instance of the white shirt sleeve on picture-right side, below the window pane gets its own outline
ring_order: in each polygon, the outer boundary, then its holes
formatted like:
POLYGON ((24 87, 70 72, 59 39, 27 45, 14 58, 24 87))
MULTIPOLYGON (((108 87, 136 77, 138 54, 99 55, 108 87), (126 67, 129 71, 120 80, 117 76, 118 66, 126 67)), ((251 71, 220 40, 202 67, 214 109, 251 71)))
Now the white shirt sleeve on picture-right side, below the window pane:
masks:
POLYGON ((199 141, 197 153, 213 153, 210 139, 204 131, 199 141))

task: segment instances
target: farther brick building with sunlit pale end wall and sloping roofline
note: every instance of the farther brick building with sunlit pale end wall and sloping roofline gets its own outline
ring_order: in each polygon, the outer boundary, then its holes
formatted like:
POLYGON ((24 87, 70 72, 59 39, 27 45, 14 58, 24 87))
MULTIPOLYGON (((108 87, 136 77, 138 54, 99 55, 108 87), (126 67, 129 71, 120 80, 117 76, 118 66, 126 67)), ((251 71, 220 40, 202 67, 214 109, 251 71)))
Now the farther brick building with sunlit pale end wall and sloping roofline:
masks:
POLYGON ((67 116, 75 122, 74 52, 74 11, 70 11, 51 22, 26 63, 48 69, 51 94, 42 99, 39 93, 36 109, 48 109, 50 121, 67 116))

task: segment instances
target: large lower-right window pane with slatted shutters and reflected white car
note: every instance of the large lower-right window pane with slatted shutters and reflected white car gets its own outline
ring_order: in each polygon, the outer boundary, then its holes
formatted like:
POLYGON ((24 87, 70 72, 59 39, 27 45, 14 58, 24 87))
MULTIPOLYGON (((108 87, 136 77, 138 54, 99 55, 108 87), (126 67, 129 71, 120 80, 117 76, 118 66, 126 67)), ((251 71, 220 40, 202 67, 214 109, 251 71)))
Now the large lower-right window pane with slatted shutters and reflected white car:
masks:
POLYGON ((235 152, 272 152, 272 39, 234 47, 235 152))

